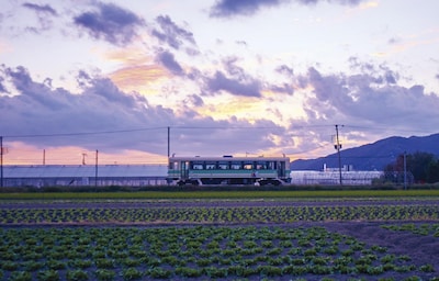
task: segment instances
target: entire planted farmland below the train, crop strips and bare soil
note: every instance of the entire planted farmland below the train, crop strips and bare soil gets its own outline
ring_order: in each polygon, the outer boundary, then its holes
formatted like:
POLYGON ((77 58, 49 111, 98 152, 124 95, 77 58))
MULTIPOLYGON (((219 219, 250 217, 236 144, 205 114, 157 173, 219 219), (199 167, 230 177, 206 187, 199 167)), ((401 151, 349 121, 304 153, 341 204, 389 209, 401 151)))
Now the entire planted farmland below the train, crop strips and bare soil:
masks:
POLYGON ((330 194, 3 193, 0 279, 439 280, 437 192, 330 194))

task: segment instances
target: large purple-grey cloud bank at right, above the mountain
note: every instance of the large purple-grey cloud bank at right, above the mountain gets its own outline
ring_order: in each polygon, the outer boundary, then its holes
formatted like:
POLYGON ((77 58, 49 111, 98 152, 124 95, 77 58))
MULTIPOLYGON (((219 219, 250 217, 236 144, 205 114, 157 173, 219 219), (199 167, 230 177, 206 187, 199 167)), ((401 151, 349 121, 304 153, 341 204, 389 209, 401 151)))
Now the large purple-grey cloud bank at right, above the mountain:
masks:
POLYGON ((323 75, 309 68, 306 79, 315 94, 305 102, 309 120, 429 132, 431 123, 424 121, 439 120, 439 97, 423 86, 397 86, 390 72, 381 68, 374 74, 323 75))

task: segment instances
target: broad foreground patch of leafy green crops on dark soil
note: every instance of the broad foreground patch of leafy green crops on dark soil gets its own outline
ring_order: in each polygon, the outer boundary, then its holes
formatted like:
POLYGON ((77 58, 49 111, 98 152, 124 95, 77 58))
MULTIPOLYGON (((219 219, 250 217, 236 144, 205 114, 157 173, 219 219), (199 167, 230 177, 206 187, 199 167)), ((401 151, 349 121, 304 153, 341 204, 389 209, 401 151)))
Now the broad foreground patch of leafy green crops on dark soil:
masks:
POLYGON ((435 271, 323 227, 280 226, 0 228, 0 265, 4 280, 399 280, 435 271))

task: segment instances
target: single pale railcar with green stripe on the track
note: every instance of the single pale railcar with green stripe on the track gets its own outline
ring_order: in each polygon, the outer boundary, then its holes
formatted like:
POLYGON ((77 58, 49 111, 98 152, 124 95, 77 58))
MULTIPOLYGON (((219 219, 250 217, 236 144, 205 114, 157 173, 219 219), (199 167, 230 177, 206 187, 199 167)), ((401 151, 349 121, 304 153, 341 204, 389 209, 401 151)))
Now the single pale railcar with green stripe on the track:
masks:
POLYGON ((168 182, 192 184, 281 186, 290 182, 288 157, 170 157, 168 182))

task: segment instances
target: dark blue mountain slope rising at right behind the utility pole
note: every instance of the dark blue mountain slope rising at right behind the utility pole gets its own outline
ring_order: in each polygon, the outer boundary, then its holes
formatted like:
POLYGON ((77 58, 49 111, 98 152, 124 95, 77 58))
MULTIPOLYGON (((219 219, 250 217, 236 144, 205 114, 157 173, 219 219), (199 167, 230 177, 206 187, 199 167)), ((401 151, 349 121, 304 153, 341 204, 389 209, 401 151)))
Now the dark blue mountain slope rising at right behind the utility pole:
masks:
MULTIPOLYGON (((416 151, 429 153, 439 157, 439 134, 429 136, 393 136, 373 144, 356 148, 341 149, 341 166, 352 166, 353 170, 383 170, 387 164, 394 162, 398 155, 416 151)), ((291 162, 292 170, 323 170, 338 168, 337 153, 317 159, 299 159, 291 162)))

